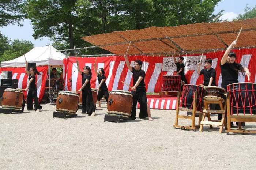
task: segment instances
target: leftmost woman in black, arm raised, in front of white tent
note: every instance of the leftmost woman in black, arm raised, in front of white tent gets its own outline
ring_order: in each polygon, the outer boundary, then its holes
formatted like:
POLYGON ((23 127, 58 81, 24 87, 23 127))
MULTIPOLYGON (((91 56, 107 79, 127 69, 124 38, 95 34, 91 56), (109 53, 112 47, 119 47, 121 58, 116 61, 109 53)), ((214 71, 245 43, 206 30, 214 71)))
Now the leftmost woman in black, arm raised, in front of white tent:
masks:
POLYGON ((36 112, 40 112, 40 109, 42 109, 42 106, 40 106, 40 103, 38 101, 37 97, 37 87, 35 86, 35 76, 40 75, 40 73, 37 71, 36 68, 30 68, 29 71, 27 70, 28 63, 26 61, 26 68, 25 71, 27 75, 29 75, 29 83, 27 84, 26 91, 27 93, 27 110, 33 110, 33 99, 35 102, 34 110, 36 112))

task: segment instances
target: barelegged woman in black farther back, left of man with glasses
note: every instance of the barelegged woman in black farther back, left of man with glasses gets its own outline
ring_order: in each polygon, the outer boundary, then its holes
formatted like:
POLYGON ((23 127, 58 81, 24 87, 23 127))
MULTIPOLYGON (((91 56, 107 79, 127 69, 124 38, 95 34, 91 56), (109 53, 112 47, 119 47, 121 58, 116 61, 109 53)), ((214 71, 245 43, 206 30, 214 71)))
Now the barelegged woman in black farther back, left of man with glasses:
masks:
POLYGON ((108 102, 109 98, 109 91, 107 84, 105 82, 106 76, 105 76, 105 71, 103 68, 99 68, 99 72, 96 70, 96 64, 94 63, 94 71, 97 74, 98 80, 99 80, 99 86, 97 88, 98 90, 98 96, 97 96, 97 101, 99 103, 98 107, 101 107, 101 98, 105 96, 106 101, 108 102))

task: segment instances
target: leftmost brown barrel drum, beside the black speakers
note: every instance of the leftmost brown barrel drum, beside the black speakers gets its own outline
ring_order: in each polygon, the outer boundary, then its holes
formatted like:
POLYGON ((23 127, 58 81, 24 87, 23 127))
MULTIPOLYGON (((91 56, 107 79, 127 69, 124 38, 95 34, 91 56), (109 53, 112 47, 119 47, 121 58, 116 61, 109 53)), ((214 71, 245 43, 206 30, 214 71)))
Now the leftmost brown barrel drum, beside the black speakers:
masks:
POLYGON ((24 94, 22 90, 7 88, 4 90, 2 97, 2 107, 5 109, 13 109, 20 111, 24 101, 24 94))

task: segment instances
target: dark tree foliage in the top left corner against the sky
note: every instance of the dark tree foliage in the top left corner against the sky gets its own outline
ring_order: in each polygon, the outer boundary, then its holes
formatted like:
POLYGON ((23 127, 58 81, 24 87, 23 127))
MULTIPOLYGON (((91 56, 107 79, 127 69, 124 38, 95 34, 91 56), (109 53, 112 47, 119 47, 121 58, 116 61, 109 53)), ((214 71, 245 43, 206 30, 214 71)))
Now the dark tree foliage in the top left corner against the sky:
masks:
POLYGON ((20 24, 23 21, 25 14, 22 10, 24 0, 0 0, 0 27, 8 24, 20 24))

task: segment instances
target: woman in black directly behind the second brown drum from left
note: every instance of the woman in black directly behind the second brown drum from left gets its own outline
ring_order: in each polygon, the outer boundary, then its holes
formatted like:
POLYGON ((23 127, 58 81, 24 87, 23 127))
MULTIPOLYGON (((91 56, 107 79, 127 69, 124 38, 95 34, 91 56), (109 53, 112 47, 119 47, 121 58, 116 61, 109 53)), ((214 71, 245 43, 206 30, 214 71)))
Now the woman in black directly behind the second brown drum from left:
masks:
POLYGON ((82 113, 95 116, 95 108, 93 103, 93 95, 91 92, 91 69, 88 66, 83 68, 83 72, 79 69, 79 63, 76 60, 77 70, 82 75, 82 87, 78 91, 82 91, 82 113))

